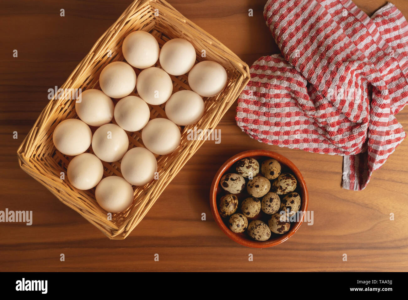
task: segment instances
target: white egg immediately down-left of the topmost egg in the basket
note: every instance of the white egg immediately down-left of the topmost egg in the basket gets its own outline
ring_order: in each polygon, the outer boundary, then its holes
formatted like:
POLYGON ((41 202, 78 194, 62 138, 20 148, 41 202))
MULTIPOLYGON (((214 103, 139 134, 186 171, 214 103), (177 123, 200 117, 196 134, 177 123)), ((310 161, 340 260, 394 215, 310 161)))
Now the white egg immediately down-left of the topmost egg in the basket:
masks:
POLYGON ((126 62, 111 62, 99 76, 102 91, 112 98, 123 98, 135 90, 136 73, 126 62))

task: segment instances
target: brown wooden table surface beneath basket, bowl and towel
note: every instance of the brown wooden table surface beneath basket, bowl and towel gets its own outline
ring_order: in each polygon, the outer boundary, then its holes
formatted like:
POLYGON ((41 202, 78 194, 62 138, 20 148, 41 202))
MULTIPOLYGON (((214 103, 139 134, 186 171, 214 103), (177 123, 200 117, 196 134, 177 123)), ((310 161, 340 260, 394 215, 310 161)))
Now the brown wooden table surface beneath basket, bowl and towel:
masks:
MULTIPOLYGON (((249 65, 279 52, 262 17, 265 0, 169 2, 249 65), (253 9, 253 17, 248 9, 253 9)), ((355 3, 371 14, 386 0, 355 3)), ((393 3, 408 17, 406 0, 393 3)), ((33 225, 0 223, 0 271, 408 271, 407 141, 374 172, 364 191, 348 191, 340 185, 341 156, 252 140, 237 127, 233 104, 217 127, 221 143, 204 143, 126 240, 109 240, 24 173, 16 151, 47 104, 47 90, 65 82, 129 4, 130 0, 2 2, 0 210, 31 210, 33 225), (60 17, 60 9, 65 17, 60 17), (18 58, 13 57, 14 49, 18 58), (13 131, 18 139, 13 139, 13 131), (292 160, 306 180, 308 210, 314 212, 312 226, 302 224, 292 238, 268 249, 229 240, 209 207, 217 169, 248 149, 268 149, 292 160), (342 260, 344 253, 347 261, 342 260)), ((408 109, 397 119, 407 129, 408 109)))

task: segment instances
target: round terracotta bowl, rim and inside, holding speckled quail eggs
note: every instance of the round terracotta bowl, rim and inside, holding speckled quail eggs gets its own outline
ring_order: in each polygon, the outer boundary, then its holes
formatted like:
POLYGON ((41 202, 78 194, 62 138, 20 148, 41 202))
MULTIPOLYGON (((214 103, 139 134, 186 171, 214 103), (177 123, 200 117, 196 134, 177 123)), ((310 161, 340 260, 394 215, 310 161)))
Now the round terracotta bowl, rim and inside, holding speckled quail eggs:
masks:
MULTIPOLYGON (((252 248, 272 247, 277 244, 283 243, 288 238, 293 236, 293 234, 297 231, 297 229, 299 229, 300 225, 302 224, 303 218, 300 218, 300 220, 297 220, 297 222, 291 222, 290 229, 288 232, 282 235, 272 233, 272 236, 269 240, 266 240, 264 242, 259 242, 259 241, 255 241, 251 239, 246 233, 235 233, 231 231, 228 228, 228 217, 222 218, 220 216, 220 213, 218 212, 217 201, 223 195, 228 193, 224 191, 224 189, 222 189, 222 187, 220 186, 221 177, 226 173, 236 173, 235 171, 236 162, 246 157, 255 158, 256 160, 259 161, 259 165, 262 163, 263 160, 267 158, 274 158, 281 164, 282 173, 293 174, 297 180, 297 187, 296 187, 295 192, 299 193, 301 200, 302 200, 299 211, 304 211, 304 212, 307 211, 307 206, 308 206, 308 190, 306 187, 306 183, 299 169, 297 169, 297 167, 293 164, 293 162, 291 162, 286 157, 278 153, 267 151, 267 150, 249 150, 249 151, 238 153, 237 155, 228 159, 215 174, 213 183, 211 184, 210 206, 211 206, 211 212, 213 213, 213 216, 214 216, 214 220, 218 224, 218 226, 221 228, 221 230, 224 231, 224 233, 228 236, 228 238, 246 247, 252 247, 252 248)), ((237 194, 237 196, 238 196, 238 199, 240 200, 239 205, 241 204, 243 198, 249 197, 249 195, 246 194, 246 189, 244 190, 244 192, 237 194)), ((259 213, 259 215, 256 216, 255 218, 251 218, 251 219, 248 218, 248 222, 251 222, 251 220, 253 219, 265 220, 266 218, 268 218, 268 215, 264 214, 261 211, 261 213, 259 213)))

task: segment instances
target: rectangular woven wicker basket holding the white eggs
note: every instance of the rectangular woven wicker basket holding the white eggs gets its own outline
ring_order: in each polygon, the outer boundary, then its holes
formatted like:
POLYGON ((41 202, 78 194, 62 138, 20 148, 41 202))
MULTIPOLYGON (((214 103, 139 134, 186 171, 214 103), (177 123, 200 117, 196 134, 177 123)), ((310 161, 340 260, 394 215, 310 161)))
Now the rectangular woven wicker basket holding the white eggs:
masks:
MULTIPOLYGON (((180 146, 171 154, 157 156, 159 179, 152 180, 144 187, 134 187, 134 200, 129 209, 115 213, 112 220, 95 200, 95 188, 88 191, 75 189, 61 172, 67 171, 72 157, 64 156, 53 145, 52 133, 56 125, 67 118, 78 118, 75 100, 69 95, 60 99, 57 95, 44 108, 34 127, 20 145, 17 155, 20 167, 42 183, 60 201, 80 213, 86 220, 98 227, 111 239, 124 239, 146 215, 162 191, 180 171, 188 159, 202 145, 204 140, 188 140, 187 130, 213 130, 222 116, 249 80, 249 68, 231 50, 193 24, 170 4, 162 0, 137 0, 122 13, 122 16, 99 38, 88 55, 78 64, 61 89, 99 89, 100 71, 110 62, 124 60, 122 42, 131 31, 148 31, 157 38, 160 46, 172 38, 184 38, 196 49, 197 60, 214 60, 224 66, 228 83, 224 91, 215 97, 204 98, 205 112, 201 120, 188 127, 182 127, 180 146), (157 16, 158 13, 158 16, 157 16), (206 58, 201 57, 202 50, 206 58)), ((139 74, 140 70, 135 69, 139 74)), ((190 89, 187 76, 171 76, 173 91, 190 89)), ((151 118, 166 117, 164 104, 151 106, 151 118)), ((93 131, 95 128, 91 128, 93 131)), ((143 146, 141 133, 129 133, 129 148, 143 146)), ((91 152, 91 148, 88 152, 91 152)), ((120 162, 103 162, 104 176, 120 173, 120 162)))

